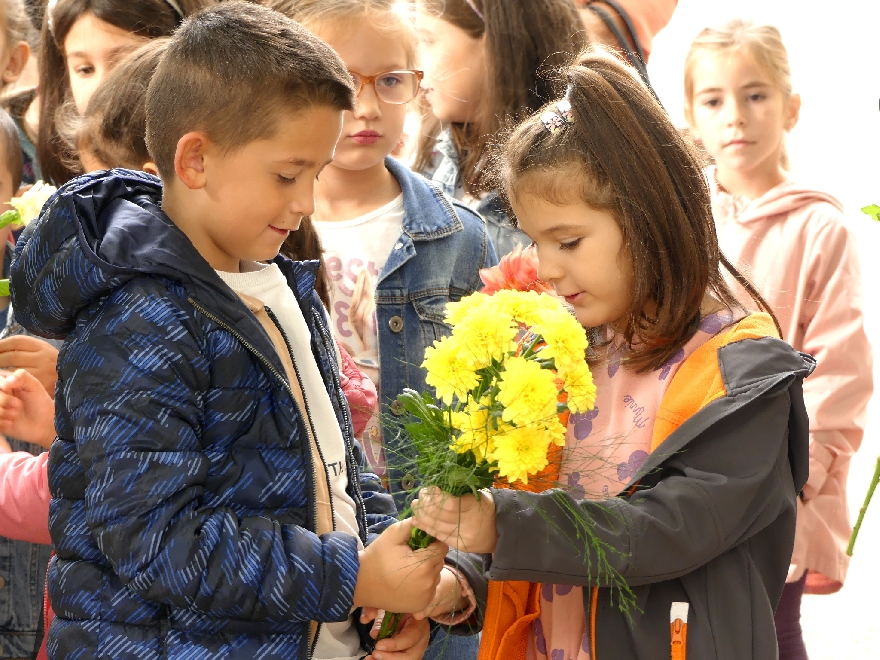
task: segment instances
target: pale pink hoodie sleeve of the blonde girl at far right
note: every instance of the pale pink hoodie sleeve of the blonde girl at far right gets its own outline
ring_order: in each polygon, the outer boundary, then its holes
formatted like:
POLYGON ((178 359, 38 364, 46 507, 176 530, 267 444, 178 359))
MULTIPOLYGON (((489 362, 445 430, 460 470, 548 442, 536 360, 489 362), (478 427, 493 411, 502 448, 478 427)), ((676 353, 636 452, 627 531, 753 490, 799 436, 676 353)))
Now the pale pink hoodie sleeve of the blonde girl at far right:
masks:
MULTIPOLYGON (((814 211, 818 212, 818 211, 814 211)), ((798 502, 794 576, 810 569, 843 584, 851 532, 846 502, 850 458, 864 435, 873 392, 871 345, 862 318, 862 281, 855 240, 842 219, 811 238, 800 277, 807 295, 791 343, 816 358, 804 380, 810 416, 810 477, 798 502)))

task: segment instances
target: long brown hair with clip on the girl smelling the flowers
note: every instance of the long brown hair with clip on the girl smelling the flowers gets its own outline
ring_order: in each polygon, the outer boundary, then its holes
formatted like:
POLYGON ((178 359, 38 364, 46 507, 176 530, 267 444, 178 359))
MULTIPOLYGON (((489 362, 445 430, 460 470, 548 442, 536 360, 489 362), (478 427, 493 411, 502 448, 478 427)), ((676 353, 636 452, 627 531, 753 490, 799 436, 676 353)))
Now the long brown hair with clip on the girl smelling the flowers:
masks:
MULTIPOLYGON (((614 215, 633 269, 632 302, 615 330, 632 347, 628 365, 650 371, 696 332, 707 292, 744 309, 721 265, 773 312, 721 254, 699 161, 636 76, 608 53, 582 54, 565 73, 572 123, 550 133, 538 113, 519 126, 500 152, 497 184, 514 198, 535 194, 614 215)), ((604 331, 591 328, 592 339, 604 331)))

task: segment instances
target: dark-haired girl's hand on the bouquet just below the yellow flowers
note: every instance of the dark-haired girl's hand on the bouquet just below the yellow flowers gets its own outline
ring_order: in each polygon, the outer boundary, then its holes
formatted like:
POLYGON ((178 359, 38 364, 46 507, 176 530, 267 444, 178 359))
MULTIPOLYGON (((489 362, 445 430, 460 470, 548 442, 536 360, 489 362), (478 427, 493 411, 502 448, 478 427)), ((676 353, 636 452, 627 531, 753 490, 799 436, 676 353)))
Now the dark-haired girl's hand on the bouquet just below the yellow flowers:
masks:
POLYGON ((413 522, 438 541, 462 552, 495 552, 495 500, 488 489, 453 497, 439 488, 423 488, 413 500, 413 522))

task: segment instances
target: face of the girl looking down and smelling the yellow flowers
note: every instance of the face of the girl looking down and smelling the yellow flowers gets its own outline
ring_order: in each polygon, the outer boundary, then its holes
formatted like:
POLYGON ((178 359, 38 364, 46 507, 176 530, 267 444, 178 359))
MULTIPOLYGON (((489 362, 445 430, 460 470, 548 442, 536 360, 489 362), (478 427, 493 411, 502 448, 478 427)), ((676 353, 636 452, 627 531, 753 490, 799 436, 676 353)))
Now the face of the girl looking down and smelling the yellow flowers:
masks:
POLYGON ((574 307, 585 327, 613 324, 632 302, 633 271, 623 232, 607 211, 582 202, 558 206, 537 195, 511 196, 519 228, 538 251, 538 277, 574 307))

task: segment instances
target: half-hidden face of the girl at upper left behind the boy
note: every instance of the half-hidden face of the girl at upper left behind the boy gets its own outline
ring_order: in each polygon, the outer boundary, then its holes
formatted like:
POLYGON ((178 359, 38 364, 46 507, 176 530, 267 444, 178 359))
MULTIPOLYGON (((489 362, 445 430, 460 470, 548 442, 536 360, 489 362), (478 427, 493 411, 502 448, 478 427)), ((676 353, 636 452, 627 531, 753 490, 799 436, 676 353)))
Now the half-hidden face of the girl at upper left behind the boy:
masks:
POLYGON ((64 39, 64 60, 70 91, 79 114, 92 93, 117 62, 148 40, 85 12, 64 39))

